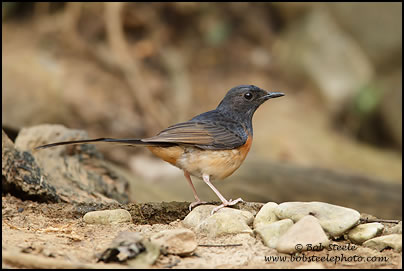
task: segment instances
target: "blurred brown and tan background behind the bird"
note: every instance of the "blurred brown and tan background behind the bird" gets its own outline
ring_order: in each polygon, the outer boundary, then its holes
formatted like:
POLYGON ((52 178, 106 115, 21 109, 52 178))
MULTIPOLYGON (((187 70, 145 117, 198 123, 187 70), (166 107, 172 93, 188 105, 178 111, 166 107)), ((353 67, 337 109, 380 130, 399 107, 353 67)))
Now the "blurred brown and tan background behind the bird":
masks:
MULTIPOLYGON (((326 201, 401 217, 402 3, 3 3, 2 127, 63 124, 141 138, 253 84, 255 113, 227 198, 326 201)), ((134 201, 192 201, 143 148, 97 145, 134 201)), ((194 179, 200 197, 218 200, 194 179)))

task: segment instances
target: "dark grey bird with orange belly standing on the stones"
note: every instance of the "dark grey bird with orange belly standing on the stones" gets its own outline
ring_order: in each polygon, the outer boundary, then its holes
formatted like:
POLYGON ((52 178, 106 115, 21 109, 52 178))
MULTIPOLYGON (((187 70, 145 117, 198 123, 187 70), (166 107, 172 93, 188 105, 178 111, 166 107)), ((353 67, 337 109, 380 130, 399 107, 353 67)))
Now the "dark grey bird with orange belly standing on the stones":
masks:
POLYGON ((240 167, 252 145, 252 117, 255 111, 265 101, 284 95, 254 85, 239 85, 226 93, 216 109, 171 125, 153 137, 63 141, 35 149, 97 142, 145 146, 157 157, 183 170, 195 198, 189 210, 207 203, 199 198, 191 176, 202 179, 222 202, 212 209, 211 214, 214 214, 223 207, 243 202, 243 199, 227 200, 211 181, 222 180, 240 167))

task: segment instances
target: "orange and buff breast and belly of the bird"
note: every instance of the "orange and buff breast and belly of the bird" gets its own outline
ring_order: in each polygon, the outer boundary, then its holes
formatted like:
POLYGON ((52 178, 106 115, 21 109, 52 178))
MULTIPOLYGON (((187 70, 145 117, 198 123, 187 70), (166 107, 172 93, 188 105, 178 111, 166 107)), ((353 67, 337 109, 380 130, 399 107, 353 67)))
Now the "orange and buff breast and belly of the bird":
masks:
POLYGON ((188 171, 191 175, 210 179, 224 179, 236 171, 247 157, 252 136, 241 147, 232 150, 202 150, 195 147, 151 147, 149 150, 170 164, 188 171))

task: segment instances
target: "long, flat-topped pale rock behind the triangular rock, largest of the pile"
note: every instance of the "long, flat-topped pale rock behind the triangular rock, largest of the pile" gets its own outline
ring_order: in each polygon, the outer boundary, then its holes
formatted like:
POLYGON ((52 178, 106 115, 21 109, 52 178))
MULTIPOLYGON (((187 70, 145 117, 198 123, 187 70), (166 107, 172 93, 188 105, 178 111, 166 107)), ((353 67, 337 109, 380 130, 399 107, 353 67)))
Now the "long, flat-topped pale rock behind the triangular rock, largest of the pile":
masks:
POLYGON ((358 223, 359 212, 323 202, 285 202, 276 208, 279 219, 290 218, 294 222, 306 215, 316 217, 321 227, 332 237, 338 237, 358 223))

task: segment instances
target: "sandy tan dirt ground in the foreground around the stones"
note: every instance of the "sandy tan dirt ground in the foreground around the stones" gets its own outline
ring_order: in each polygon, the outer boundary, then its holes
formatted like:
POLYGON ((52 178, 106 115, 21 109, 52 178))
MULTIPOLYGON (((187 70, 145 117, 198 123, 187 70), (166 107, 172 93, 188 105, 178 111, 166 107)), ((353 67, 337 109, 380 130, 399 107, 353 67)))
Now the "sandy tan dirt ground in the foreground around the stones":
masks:
MULTIPOLYGON (((124 205, 130 210, 130 205, 124 205)), ((82 210, 85 212, 85 210, 82 210)), ((80 212, 64 203, 21 201, 2 197, 3 268, 117 267, 96 263, 121 231, 136 231, 145 237, 166 229, 181 228, 181 217, 164 224, 90 225, 80 212), (76 211, 74 211, 76 210, 76 211), (34 255, 36 257, 29 257, 34 255)), ((132 212, 133 213, 133 212, 132 212)), ((177 214, 178 215, 178 214, 177 214)), ((134 221, 136 221, 134 219, 134 221)), ((391 227, 393 224, 385 224, 391 227)), ((160 255, 153 268, 401 268, 402 254, 391 249, 378 252, 345 240, 332 241, 333 250, 290 256, 263 245, 258 236, 238 234, 220 238, 198 236, 199 245, 187 257, 160 255), (222 245, 214 247, 209 245, 222 245), (228 245, 228 246, 223 246, 228 245), (351 250, 342 250, 351 248, 351 250), (334 257, 333 257, 334 256, 334 257), (338 257, 340 258, 338 258, 338 257), (283 257, 283 258, 281 258, 283 257), (323 262, 321 262, 323 257, 323 262), (333 258, 332 258, 333 257, 333 258), (338 260, 340 259, 340 260, 338 260), (337 261, 336 263, 334 261, 337 261)), ((119 267, 119 266, 118 266, 119 267)), ((125 265, 121 265, 125 268, 125 265)))

